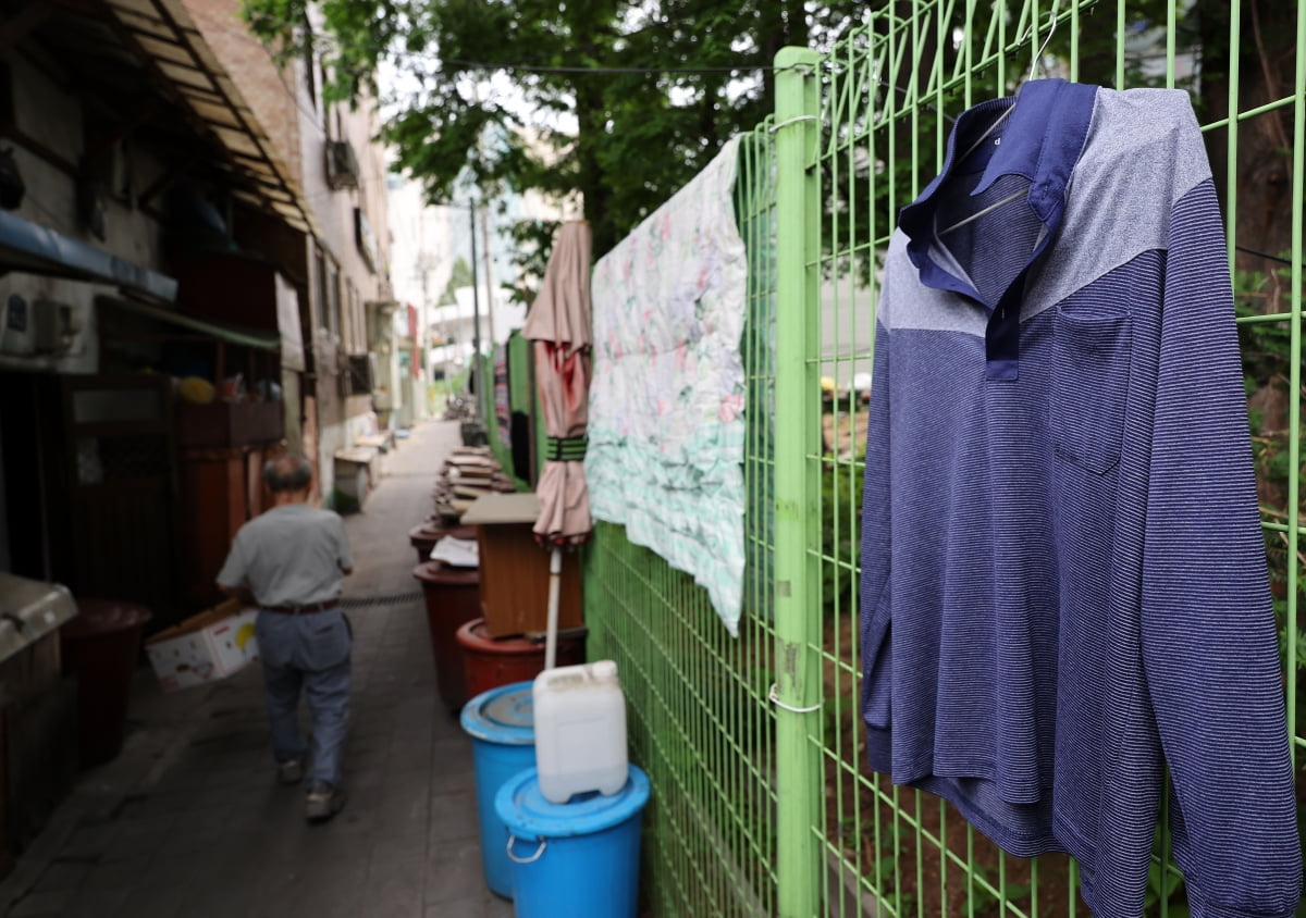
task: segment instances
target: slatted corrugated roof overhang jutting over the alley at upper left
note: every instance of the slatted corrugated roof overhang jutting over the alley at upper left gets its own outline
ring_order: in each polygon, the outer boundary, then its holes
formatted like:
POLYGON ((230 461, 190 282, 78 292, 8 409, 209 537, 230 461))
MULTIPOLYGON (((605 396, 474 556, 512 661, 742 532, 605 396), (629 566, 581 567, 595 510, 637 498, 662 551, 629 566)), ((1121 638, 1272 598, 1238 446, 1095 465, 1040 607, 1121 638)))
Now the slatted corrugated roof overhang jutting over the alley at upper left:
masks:
POLYGON ((234 171, 251 187, 243 197, 296 230, 321 236, 293 172, 180 0, 107 0, 106 5, 121 25, 120 37, 175 86, 183 104, 229 153, 234 171))

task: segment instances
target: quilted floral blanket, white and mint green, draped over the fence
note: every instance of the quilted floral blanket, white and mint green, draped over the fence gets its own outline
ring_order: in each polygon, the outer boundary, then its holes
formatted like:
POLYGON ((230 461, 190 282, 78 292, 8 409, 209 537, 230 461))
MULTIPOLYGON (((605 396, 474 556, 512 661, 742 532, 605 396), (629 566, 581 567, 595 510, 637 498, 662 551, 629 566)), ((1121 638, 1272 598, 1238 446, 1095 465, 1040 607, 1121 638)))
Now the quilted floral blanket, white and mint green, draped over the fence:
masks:
POLYGON ((738 144, 594 266, 585 454, 594 517, 692 573, 731 635, 744 568, 738 144))

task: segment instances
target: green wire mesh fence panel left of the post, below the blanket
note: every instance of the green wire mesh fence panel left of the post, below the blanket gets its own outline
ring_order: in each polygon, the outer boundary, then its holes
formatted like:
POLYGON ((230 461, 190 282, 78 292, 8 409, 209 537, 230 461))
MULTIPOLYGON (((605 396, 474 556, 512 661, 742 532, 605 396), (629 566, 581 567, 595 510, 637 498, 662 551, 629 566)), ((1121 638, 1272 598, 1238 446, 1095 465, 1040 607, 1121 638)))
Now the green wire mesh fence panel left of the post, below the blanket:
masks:
POLYGON ((631 757, 649 776, 644 897, 657 915, 777 913, 772 627, 774 162, 767 125, 744 138, 735 212, 748 257, 744 370, 747 572, 739 637, 708 594, 620 526, 585 560, 590 659, 615 659, 631 757))

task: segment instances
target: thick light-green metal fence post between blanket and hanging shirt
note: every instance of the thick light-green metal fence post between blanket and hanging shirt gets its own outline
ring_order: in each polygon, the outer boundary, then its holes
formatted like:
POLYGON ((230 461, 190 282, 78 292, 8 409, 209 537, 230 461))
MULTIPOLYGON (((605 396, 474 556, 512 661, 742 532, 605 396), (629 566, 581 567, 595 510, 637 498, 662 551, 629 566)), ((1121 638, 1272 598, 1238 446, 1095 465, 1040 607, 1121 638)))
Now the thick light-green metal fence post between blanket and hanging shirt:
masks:
POLYGON ((820 458, 816 142, 820 55, 776 55, 776 870, 780 914, 820 913, 820 458), (816 551, 812 550, 815 539, 816 551))

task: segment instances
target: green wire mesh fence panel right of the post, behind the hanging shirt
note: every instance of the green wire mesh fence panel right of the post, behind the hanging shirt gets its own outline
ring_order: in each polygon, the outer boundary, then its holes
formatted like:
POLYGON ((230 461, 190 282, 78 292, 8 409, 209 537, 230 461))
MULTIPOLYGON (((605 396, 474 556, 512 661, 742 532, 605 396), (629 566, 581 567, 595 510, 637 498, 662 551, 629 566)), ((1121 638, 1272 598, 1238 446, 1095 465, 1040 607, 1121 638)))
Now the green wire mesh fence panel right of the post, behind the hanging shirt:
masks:
MULTIPOLYGON (((1084 915, 1076 866, 1064 855, 1004 855, 939 798, 895 787, 865 765, 858 710, 858 535, 872 380, 879 270, 899 210, 942 166, 952 120, 1011 95, 1030 76, 1115 89, 1190 93, 1207 141, 1234 268, 1243 371, 1267 556, 1281 628, 1294 752, 1306 646, 1298 632, 1301 474, 1302 131, 1306 30, 1293 3, 880 4, 865 26, 804 73, 819 118, 804 171, 815 183, 819 242, 803 253, 808 353, 802 373, 781 367, 780 398, 803 387, 820 448, 803 474, 819 487, 810 555, 820 576, 806 607, 820 616, 823 709, 808 734, 821 785, 812 814, 820 849, 819 901, 794 914, 1084 915), (815 370, 814 370, 815 368, 815 370), (819 380, 814 384, 814 380, 819 380)), ((802 245, 798 234, 781 234, 802 245)), ((781 441, 780 449, 790 444, 781 441)), ((781 623, 782 625, 784 623, 781 623)), ((784 750, 781 750, 784 755, 784 750)), ((777 789, 785 807, 790 791, 777 789)), ((1187 915, 1161 814, 1148 915, 1187 915)))

